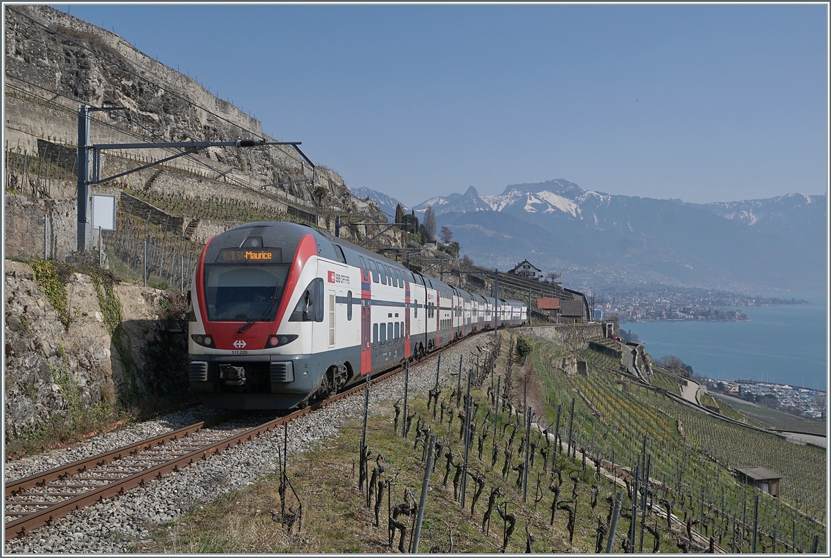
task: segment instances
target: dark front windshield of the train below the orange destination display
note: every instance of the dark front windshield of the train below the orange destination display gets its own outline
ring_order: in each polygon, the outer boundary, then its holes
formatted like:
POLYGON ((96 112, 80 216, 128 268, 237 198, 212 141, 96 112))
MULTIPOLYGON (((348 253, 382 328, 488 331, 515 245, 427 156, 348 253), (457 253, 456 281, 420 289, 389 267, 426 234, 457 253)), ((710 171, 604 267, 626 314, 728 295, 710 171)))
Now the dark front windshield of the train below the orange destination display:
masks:
POLYGON ((206 265, 208 320, 273 321, 283 297, 288 267, 288 263, 206 265))

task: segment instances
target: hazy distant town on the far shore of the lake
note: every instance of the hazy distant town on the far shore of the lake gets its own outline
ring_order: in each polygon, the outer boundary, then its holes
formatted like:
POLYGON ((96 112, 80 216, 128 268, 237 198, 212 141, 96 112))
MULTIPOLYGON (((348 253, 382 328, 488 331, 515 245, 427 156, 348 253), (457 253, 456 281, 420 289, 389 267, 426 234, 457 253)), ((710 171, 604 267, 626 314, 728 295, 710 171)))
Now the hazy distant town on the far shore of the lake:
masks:
POLYGON ((656 286, 652 289, 615 290, 597 293, 594 318, 617 316, 620 321, 744 321, 747 316, 736 307, 809 304, 795 298, 741 296, 706 289, 673 289, 656 286))

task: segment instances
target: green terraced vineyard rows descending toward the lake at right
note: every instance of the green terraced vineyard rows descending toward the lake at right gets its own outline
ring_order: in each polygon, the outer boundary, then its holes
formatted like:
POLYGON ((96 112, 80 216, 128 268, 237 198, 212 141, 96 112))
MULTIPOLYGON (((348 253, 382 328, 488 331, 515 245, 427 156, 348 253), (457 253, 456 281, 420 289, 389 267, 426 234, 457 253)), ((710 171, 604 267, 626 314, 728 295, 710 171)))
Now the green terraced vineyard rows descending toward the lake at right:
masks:
MULTIPOLYGON (((548 394, 548 419, 553 421, 558 409, 568 411, 573 394, 578 394, 573 426, 577 443, 630 468, 639 459, 643 468, 646 448, 658 498, 671 502, 677 516, 715 536, 725 550, 750 551, 759 497, 760 550, 771 551, 775 540, 776 551, 789 551, 795 538, 797 549, 810 551, 815 534, 824 539, 824 450, 676 403, 659 389, 637 384, 622 374, 616 360, 593 351, 578 353, 588 363, 588 374, 568 376, 553 368, 565 355, 562 347, 538 340, 530 357, 548 394), (729 469, 745 466, 781 474, 781 499, 735 482, 729 469)), ((678 393, 669 374, 658 378, 659 387, 678 393)))

